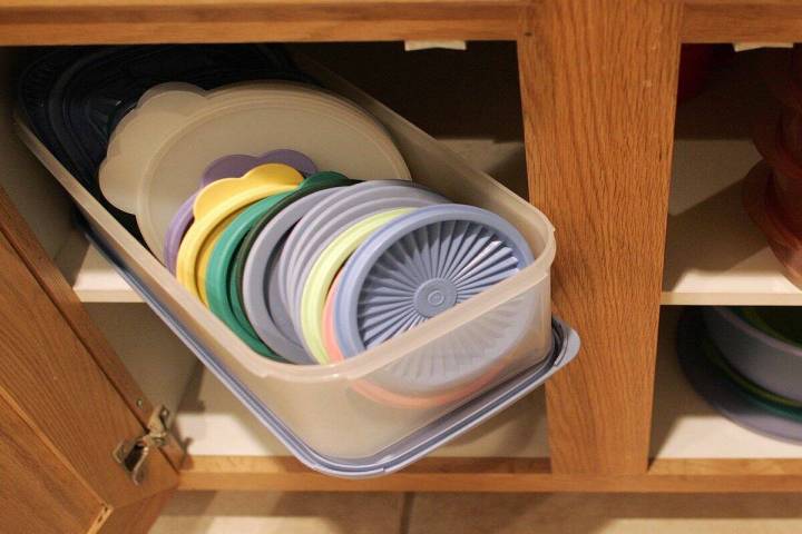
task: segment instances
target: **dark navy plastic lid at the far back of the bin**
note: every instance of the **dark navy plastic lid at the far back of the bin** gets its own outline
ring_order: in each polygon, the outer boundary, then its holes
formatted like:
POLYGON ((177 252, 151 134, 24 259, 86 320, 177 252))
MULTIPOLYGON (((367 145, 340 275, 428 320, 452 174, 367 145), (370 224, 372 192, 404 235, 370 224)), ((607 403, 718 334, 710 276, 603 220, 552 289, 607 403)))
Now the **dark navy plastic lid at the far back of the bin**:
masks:
POLYGON ((277 46, 60 47, 39 52, 18 85, 19 108, 51 154, 138 236, 134 218, 98 187, 109 137, 151 87, 180 81, 213 89, 247 80, 312 80, 277 46))

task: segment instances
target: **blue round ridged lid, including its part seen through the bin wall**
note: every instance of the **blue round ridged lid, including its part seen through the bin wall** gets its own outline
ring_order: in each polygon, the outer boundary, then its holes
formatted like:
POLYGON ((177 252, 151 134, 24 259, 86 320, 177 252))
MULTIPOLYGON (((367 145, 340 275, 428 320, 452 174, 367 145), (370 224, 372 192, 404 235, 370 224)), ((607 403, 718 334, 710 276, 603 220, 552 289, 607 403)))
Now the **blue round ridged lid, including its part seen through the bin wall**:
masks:
MULTIPOLYGON (((373 234, 343 267, 334 301, 338 345, 346 358, 360 354, 532 260, 518 230, 490 211, 454 204, 418 209, 373 234)), ((476 350, 443 347, 432 355, 434 362, 410 358, 392 366, 383 373, 385 380, 423 393, 457 387, 486 373, 522 335, 510 325, 519 324, 527 305, 508 312, 509 324, 472 333, 476 350)))

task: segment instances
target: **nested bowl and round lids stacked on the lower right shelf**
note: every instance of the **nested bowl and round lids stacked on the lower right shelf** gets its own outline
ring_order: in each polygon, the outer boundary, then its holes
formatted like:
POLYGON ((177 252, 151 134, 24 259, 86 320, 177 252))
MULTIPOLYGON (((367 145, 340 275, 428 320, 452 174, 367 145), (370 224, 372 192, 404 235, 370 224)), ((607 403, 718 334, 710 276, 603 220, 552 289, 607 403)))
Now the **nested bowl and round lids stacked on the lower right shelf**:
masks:
POLYGON ((802 443, 802 309, 686 312, 677 353, 694 388, 730 419, 802 443))

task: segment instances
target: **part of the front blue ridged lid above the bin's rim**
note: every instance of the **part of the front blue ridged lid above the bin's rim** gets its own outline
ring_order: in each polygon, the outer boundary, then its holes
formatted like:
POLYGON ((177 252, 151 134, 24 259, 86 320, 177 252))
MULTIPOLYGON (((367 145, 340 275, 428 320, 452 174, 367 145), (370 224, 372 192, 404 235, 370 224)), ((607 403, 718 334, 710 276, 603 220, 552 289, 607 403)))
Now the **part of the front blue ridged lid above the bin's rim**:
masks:
POLYGON ((481 208, 421 208, 371 236, 343 269, 335 303, 345 357, 512 276, 534 260, 526 239, 481 208))

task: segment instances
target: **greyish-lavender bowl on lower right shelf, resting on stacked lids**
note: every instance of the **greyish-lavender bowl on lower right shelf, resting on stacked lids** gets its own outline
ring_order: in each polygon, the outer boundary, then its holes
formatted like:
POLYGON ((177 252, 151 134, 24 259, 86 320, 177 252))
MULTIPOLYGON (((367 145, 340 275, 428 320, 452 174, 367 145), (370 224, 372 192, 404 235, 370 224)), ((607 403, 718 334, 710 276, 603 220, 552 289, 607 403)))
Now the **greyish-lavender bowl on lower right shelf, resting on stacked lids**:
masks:
POLYGON ((767 335, 726 307, 704 308, 704 320, 713 343, 741 375, 802 402, 802 347, 767 335))

